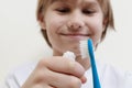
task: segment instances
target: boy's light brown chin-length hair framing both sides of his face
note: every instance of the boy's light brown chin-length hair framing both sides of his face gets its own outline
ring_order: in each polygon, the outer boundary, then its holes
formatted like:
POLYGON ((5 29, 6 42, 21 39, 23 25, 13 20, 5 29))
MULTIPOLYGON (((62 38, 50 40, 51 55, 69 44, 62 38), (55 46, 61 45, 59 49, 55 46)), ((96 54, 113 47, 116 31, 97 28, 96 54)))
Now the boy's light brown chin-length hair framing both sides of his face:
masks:
MULTIPOLYGON (((55 0, 38 0, 37 2, 37 8, 36 8, 36 20, 41 21, 42 18, 44 16, 44 13, 47 9, 47 7, 55 0)), ((106 20, 106 28, 105 31, 102 32, 101 41, 105 40, 106 34, 108 30, 114 30, 114 21, 113 21, 113 12, 112 12, 112 7, 110 3, 110 0, 98 0, 102 13, 103 13, 103 20, 106 20)), ((48 41, 46 30, 41 29, 43 36, 45 37, 47 44, 52 47, 52 44, 48 41)))

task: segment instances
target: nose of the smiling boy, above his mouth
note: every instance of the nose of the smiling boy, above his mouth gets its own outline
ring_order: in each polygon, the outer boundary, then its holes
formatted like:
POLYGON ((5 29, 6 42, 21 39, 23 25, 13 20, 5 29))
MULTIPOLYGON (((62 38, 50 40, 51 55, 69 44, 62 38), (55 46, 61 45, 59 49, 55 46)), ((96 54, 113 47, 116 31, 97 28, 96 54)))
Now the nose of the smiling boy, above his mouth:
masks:
POLYGON ((67 25, 72 30, 79 30, 85 25, 82 15, 79 12, 70 14, 67 25))

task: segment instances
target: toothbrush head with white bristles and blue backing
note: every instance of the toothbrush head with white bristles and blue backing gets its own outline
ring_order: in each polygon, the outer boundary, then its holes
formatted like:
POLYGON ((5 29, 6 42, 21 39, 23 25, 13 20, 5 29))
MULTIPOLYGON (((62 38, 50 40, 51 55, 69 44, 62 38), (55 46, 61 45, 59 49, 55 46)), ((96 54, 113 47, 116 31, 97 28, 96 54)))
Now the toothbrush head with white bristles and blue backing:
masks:
POLYGON ((92 41, 90 38, 80 41, 79 46, 81 58, 90 57, 89 53, 92 51, 92 41))

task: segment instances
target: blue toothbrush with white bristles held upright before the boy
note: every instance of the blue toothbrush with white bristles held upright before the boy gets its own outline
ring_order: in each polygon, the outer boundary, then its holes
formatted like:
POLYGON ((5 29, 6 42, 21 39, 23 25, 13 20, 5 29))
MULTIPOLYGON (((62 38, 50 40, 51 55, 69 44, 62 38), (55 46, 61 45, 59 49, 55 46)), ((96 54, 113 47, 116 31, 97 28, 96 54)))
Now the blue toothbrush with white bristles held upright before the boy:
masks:
POLYGON ((82 58, 86 58, 88 56, 90 57, 94 88, 101 88, 97 67, 96 67, 96 62, 95 62, 92 41, 90 38, 87 41, 80 41, 80 53, 81 53, 82 58))

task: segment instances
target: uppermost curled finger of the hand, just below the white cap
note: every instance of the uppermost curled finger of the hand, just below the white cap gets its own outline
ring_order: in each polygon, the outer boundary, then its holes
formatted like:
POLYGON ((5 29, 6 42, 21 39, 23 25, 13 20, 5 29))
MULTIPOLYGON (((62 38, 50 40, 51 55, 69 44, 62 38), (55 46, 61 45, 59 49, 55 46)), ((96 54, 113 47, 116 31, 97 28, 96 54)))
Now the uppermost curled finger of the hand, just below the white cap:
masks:
POLYGON ((46 66, 51 70, 70 74, 78 78, 82 77, 82 75, 85 74, 85 69, 79 63, 58 56, 50 59, 42 59, 40 62, 40 66, 46 66))

